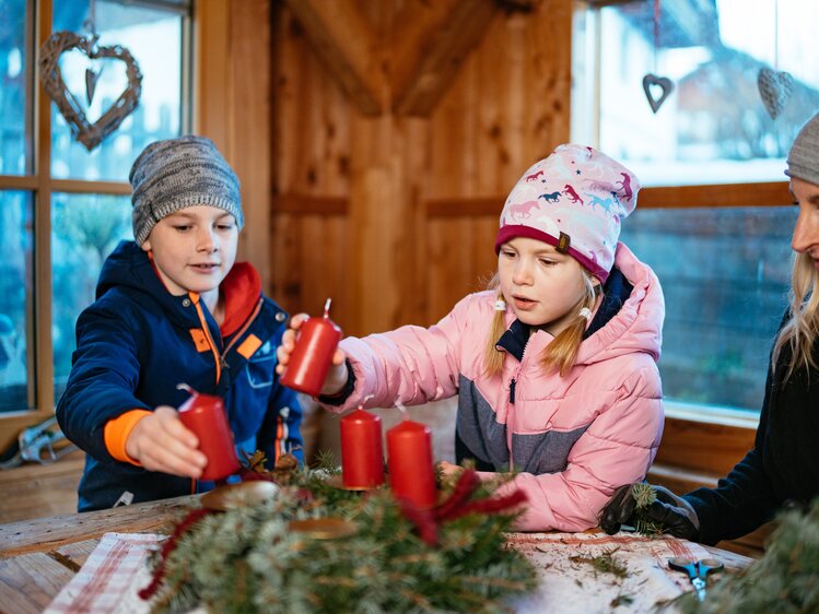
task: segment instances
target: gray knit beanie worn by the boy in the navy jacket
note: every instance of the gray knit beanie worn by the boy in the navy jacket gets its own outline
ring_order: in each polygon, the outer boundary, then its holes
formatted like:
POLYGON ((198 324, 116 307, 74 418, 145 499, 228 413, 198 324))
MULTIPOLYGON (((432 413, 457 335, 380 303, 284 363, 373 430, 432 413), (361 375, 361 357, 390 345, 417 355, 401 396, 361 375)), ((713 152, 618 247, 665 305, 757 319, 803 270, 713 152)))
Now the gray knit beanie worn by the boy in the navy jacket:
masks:
POLYGON ((148 240, 156 222, 175 211, 208 204, 224 209, 242 229, 242 197, 238 178, 204 137, 179 137, 156 141, 137 157, 131 174, 133 238, 148 240))

